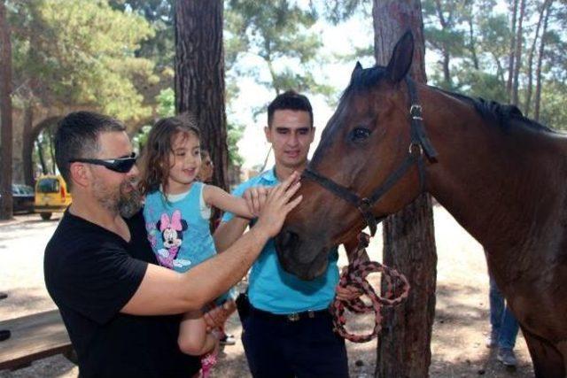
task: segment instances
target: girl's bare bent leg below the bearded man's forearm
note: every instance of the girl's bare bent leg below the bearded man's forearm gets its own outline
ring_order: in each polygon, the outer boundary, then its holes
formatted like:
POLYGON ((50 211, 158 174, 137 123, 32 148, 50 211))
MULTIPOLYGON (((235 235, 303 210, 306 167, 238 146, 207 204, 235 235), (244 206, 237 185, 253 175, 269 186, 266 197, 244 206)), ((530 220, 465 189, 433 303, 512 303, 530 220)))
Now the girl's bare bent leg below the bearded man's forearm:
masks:
POLYGON ((201 356, 208 351, 213 351, 217 338, 206 332, 206 322, 200 311, 185 312, 179 327, 177 338, 179 349, 191 356, 201 356))

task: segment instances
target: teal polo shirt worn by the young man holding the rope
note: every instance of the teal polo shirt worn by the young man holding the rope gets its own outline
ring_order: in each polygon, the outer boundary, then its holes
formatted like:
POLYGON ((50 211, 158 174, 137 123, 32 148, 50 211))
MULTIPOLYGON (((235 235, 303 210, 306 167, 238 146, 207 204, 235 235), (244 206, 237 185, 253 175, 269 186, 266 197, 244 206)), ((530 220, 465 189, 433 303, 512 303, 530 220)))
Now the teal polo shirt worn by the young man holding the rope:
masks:
MULTIPOLYGON (((232 194, 242 197, 248 188, 275 186, 278 183, 272 168, 243 182, 232 194)), ((232 218, 234 215, 227 212, 222 221, 227 222, 232 218)), ((323 310, 329 307, 335 297, 335 287, 338 284, 337 260, 338 251, 334 249, 330 252, 325 273, 313 281, 302 281, 283 270, 277 259, 274 240, 270 239, 252 265, 248 280, 250 303, 260 310, 278 314, 323 310)))

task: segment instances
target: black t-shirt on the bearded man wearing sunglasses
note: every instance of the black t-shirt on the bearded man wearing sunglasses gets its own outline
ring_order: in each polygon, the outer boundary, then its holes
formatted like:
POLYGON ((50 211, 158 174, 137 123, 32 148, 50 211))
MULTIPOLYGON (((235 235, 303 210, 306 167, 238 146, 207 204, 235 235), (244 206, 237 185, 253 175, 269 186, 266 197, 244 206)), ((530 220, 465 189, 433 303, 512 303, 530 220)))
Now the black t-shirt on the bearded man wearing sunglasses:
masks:
POLYGON ((142 282, 147 264, 157 264, 142 213, 127 223, 129 243, 67 211, 45 249, 45 284, 77 352, 79 373, 190 377, 200 362, 179 350, 179 315, 120 313, 142 282))

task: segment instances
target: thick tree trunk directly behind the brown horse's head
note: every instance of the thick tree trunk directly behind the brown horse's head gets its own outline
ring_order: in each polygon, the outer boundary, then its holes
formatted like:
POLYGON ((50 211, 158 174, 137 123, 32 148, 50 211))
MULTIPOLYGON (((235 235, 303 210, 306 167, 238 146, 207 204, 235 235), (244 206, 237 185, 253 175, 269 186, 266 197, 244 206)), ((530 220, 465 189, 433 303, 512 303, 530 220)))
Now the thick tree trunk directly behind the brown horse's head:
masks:
MULTIPOLYGON (((377 64, 385 66, 400 36, 415 38, 411 76, 425 82, 422 8, 419 0, 374 0, 377 64)), ((378 339, 378 377, 426 377, 431 364, 431 328, 435 314, 437 251, 431 197, 424 194, 384 222, 384 263, 406 274, 408 300, 384 311, 378 339)))

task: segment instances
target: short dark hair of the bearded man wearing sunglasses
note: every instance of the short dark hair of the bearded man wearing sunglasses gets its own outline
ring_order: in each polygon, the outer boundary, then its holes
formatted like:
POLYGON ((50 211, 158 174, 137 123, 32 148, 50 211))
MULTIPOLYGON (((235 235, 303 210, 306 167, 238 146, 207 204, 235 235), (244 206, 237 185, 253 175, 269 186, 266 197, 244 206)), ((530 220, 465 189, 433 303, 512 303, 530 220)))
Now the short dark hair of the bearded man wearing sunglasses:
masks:
POLYGON ((112 117, 96 112, 71 112, 58 123, 55 133, 55 162, 67 186, 71 188, 69 160, 96 158, 98 135, 109 131, 125 131, 126 127, 112 117))

